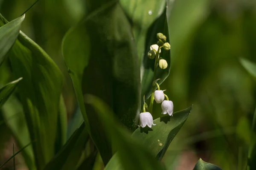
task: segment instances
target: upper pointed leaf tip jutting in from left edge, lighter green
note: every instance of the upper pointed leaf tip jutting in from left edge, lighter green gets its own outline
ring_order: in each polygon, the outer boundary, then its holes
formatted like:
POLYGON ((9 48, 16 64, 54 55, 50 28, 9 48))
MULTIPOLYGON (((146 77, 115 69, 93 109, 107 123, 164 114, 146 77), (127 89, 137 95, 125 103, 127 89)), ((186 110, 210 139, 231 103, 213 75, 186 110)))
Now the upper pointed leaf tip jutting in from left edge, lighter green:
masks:
POLYGON ((7 52, 15 43, 20 32, 21 23, 23 22, 24 18, 25 15, 12 20, 0 28, 0 65, 5 59, 7 52))

